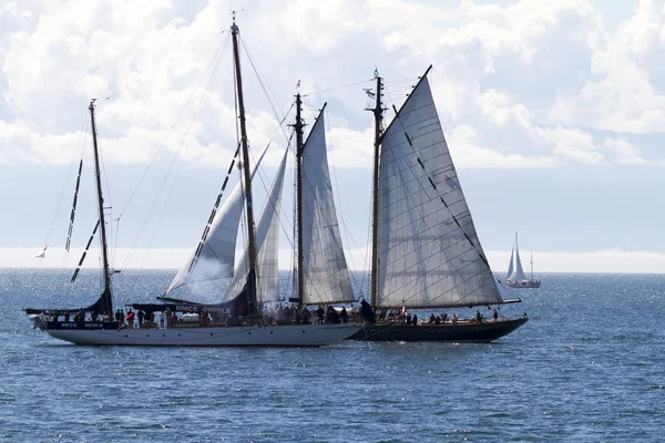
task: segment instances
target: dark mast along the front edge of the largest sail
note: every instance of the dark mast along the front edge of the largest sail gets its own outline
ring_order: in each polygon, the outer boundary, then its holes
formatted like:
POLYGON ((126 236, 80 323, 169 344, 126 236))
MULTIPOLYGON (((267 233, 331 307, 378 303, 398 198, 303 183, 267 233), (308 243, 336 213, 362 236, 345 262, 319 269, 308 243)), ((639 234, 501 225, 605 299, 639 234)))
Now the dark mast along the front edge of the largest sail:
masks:
POLYGON ((376 308, 377 293, 379 286, 379 266, 378 266, 378 245, 379 237, 379 148, 381 144, 381 125, 383 122, 383 107, 381 104, 381 78, 378 71, 375 71, 377 78, 377 101, 371 110, 375 114, 375 164, 372 183, 372 204, 371 204, 371 298, 370 305, 376 308))

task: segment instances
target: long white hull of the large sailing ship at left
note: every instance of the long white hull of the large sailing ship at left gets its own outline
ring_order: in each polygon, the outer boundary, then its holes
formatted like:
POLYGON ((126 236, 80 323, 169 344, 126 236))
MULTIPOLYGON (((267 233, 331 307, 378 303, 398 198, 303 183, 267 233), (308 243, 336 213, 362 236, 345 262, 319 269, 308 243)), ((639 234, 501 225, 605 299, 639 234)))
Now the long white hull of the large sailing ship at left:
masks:
POLYGON ((89 346, 319 347, 339 342, 361 324, 289 324, 168 329, 45 329, 51 337, 89 346))

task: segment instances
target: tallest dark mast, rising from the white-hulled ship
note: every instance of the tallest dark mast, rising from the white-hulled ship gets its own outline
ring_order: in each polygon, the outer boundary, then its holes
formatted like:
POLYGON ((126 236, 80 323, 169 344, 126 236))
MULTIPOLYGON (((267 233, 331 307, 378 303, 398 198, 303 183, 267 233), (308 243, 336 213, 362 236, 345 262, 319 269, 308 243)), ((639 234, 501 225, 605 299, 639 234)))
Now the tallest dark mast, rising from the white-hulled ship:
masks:
POLYGON ((238 52, 238 27, 235 24, 235 11, 231 27, 233 35, 233 59, 238 95, 238 110, 241 119, 241 144, 243 147, 243 172, 245 178, 245 198, 247 202, 247 254, 249 256, 249 272, 247 274, 247 301, 252 303, 253 311, 257 313, 256 306, 256 247, 254 240, 254 208, 252 207, 252 178, 249 174, 249 151, 247 148, 247 127, 245 124, 245 102, 243 99, 243 78, 241 75, 241 56, 238 52))

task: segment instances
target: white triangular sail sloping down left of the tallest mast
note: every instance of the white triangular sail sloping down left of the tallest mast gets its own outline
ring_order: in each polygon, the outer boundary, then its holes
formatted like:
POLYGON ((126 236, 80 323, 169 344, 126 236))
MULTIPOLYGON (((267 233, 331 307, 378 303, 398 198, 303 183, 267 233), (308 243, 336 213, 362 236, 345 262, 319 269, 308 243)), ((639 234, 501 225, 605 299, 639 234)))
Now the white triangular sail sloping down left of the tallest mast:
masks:
MULTIPOLYGON (((254 178, 254 173, 260 165, 267 148, 267 146, 264 148, 256 162, 256 166, 252 171, 252 178, 254 178)), ((241 181, 222 207, 214 216, 211 215, 212 222, 208 220, 205 228, 207 231, 205 240, 200 241, 194 248, 187 261, 171 281, 166 293, 187 284, 233 277, 236 238, 244 204, 245 192, 241 181), (198 249, 201 251, 197 254, 198 249)))

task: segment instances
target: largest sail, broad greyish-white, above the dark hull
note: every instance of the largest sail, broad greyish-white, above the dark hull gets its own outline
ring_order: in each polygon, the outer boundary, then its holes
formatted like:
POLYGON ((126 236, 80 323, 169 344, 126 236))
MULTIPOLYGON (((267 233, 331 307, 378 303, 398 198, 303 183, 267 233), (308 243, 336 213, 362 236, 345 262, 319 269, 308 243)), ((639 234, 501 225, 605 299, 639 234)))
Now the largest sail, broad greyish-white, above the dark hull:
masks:
POLYGON ((383 135, 378 305, 501 302, 460 188, 427 76, 383 135))

